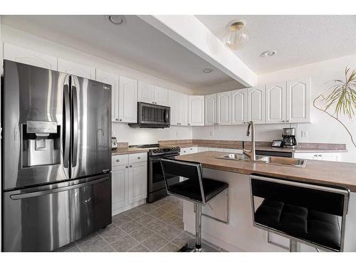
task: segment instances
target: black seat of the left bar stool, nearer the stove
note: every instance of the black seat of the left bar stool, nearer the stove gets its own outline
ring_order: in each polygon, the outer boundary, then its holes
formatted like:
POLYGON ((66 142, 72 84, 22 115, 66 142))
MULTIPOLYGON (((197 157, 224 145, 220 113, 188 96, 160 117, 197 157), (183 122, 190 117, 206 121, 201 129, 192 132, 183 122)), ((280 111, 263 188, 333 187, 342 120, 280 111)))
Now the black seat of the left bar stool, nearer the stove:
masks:
MULTIPOLYGON (((206 202, 208 202, 210 199, 213 199, 229 187, 229 184, 226 184, 226 182, 220 182, 208 178, 203 178, 202 184, 206 202)), ((171 185, 169 187, 169 191, 174 194, 188 197, 189 199, 202 201, 199 185, 192 183, 189 180, 171 185)))

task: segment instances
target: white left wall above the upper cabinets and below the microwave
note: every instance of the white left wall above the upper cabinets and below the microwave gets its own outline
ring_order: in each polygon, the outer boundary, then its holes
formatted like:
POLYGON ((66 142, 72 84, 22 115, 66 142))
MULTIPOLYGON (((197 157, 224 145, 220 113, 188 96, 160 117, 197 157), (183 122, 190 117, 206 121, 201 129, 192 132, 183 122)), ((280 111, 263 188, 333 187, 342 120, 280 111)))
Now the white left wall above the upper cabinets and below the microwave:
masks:
MULTIPOLYGON (((171 83, 167 80, 162 80, 152 75, 147 75, 132 68, 106 61, 102 58, 92 56, 88 53, 75 50, 68 46, 63 46, 53 41, 48 41, 30 33, 20 31, 16 28, 1 25, 1 41, 11 43, 16 46, 31 49, 33 51, 40 51, 48 55, 57 56, 58 58, 68 59, 78 63, 83 63, 101 70, 108 70, 112 73, 125 75, 130 78, 145 81, 153 85, 158 85, 169 90, 174 90, 180 93, 192 95, 190 88, 171 83)), ((1 49, 2 51, 2 49, 1 49)), ((1 61, 2 62, 2 61, 1 61)), ((156 143, 158 140, 165 139, 191 139, 191 127, 172 127, 166 129, 134 129, 127 124, 112 123, 112 130, 115 132, 115 137, 119 142, 129 142, 130 145, 156 143), (178 129, 179 128, 179 129, 178 129)))

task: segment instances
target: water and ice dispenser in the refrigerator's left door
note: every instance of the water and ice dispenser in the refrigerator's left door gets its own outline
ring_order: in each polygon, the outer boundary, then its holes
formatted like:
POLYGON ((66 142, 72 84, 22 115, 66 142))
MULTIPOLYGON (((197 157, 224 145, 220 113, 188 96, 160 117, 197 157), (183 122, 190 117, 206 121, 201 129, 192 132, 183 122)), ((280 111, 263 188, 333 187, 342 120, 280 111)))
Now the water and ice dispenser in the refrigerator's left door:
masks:
POLYGON ((22 167, 61 163, 61 126, 28 120, 22 125, 22 167))

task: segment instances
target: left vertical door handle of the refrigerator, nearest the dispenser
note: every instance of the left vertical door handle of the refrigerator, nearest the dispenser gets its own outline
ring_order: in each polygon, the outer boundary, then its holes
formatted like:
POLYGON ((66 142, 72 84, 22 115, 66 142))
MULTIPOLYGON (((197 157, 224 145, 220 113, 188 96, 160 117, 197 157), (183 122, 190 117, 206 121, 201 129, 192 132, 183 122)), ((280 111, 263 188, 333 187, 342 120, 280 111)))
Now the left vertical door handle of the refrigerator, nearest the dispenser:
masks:
POLYGON ((70 99, 69 99, 69 85, 65 84, 63 88, 64 93, 64 127, 63 127, 63 166, 69 167, 69 152, 70 152, 70 99))

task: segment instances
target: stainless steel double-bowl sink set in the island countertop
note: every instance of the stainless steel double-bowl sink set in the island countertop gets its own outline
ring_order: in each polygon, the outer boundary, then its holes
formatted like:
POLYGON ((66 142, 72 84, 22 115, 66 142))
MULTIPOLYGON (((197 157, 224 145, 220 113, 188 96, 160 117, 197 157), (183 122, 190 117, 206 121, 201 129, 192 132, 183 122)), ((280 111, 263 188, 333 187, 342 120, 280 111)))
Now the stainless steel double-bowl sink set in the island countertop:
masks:
MULTIPOLYGON (((246 160, 252 161, 248 156, 244 154, 227 154, 222 155, 220 157, 216 157, 217 159, 232 159, 232 160, 246 160)), ((293 157, 272 157, 272 156, 261 156, 256 155, 257 163, 266 163, 273 165, 282 165, 282 166, 290 166, 290 167, 305 167, 306 160, 305 159, 295 159, 293 157)))

